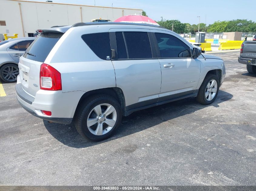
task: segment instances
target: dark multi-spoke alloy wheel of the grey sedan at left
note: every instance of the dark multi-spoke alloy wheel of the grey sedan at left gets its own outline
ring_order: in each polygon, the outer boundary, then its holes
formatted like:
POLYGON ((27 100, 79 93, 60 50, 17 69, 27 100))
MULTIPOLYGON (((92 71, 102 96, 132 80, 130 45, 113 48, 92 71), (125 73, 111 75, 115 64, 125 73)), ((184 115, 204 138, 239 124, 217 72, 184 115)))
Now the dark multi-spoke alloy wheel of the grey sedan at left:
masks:
POLYGON ((0 68, 0 78, 5 82, 16 82, 19 68, 16 64, 5 64, 0 68))

